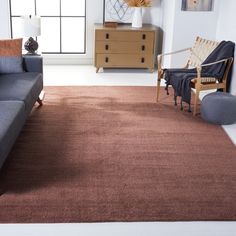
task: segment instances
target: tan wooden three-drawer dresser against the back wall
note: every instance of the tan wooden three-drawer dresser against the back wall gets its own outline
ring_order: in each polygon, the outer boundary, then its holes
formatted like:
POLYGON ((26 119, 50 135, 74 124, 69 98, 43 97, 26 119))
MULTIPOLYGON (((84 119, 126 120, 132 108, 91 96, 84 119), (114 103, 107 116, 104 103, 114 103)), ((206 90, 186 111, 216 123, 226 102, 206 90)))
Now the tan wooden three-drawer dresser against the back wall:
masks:
POLYGON ((157 29, 144 25, 135 29, 128 25, 107 28, 95 25, 95 67, 147 68, 154 70, 157 29))

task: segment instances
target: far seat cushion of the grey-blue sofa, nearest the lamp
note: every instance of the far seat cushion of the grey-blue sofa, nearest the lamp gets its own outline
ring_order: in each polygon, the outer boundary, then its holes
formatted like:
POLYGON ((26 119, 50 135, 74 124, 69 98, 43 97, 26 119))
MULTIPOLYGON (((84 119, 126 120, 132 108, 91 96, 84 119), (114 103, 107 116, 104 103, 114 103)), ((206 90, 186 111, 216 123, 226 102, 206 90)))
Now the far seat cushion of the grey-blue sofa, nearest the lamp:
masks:
POLYGON ((36 72, 0 75, 0 101, 23 101, 29 113, 43 89, 43 76, 36 72))

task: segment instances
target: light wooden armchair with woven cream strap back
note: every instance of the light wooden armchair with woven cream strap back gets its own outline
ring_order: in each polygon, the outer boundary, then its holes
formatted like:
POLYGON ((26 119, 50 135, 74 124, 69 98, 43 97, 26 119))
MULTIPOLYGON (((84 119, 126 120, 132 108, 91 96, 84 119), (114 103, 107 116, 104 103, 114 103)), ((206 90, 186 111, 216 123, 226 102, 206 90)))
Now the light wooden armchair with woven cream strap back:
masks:
POLYGON ((192 48, 186 48, 186 49, 175 51, 172 53, 158 55, 157 57, 157 62, 158 62, 157 102, 158 102, 159 93, 160 93, 161 80, 164 79, 163 78, 164 70, 162 68, 163 57, 185 52, 185 51, 189 51, 190 56, 186 65, 183 68, 185 69, 196 68, 197 69, 197 77, 191 80, 191 87, 195 89, 195 99, 194 99, 194 109, 193 109, 194 116, 197 114, 197 104, 199 101, 200 91, 211 90, 211 89, 223 89, 223 91, 226 91, 226 80, 228 77, 230 67, 233 62, 233 58, 227 58, 227 59, 216 61, 209 64, 202 64, 205 61, 205 59, 211 54, 211 52, 213 52, 213 50, 218 45, 219 45, 219 42, 197 37, 194 43, 194 46, 192 48), (211 66, 217 63, 226 64, 226 69, 225 69, 223 78, 221 80, 218 80, 217 78, 214 78, 214 77, 201 76, 201 71, 203 67, 211 66))

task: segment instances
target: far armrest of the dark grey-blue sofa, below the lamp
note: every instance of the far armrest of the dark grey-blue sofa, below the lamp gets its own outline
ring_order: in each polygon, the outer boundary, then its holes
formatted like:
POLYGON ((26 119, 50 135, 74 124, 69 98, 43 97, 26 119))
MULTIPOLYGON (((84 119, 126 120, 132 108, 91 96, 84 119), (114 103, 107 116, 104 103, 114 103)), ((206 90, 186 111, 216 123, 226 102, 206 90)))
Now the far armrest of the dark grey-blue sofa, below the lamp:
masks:
POLYGON ((43 73, 43 58, 42 56, 23 56, 23 68, 27 72, 43 73))

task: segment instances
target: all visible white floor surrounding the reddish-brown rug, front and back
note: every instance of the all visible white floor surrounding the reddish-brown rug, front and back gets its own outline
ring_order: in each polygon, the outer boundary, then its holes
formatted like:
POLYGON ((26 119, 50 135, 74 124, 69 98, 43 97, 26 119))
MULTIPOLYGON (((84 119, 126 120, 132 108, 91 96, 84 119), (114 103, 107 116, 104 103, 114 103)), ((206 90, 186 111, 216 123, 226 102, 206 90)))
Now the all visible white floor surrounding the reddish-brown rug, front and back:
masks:
MULTIPOLYGON (((93 66, 45 66, 45 86, 154 86, 156 73, 106 70, 93 66)), ((153 98, 155 99, 155 98, 153 98)), ((224 126, 236 145, 236 124, 224 126)), ((1 209, 0 209, 1 210, 1 209)), ((139 222, 97 224, 5 224, 0 236, 236 236, 236 222, 139 222)))

